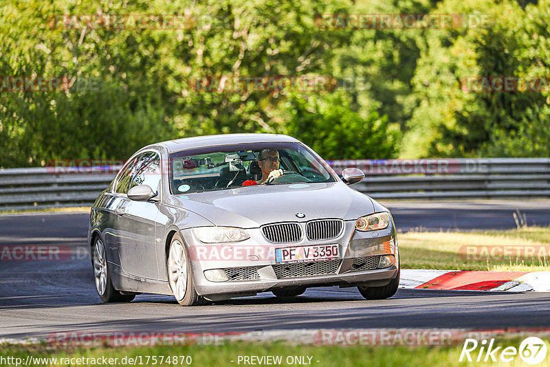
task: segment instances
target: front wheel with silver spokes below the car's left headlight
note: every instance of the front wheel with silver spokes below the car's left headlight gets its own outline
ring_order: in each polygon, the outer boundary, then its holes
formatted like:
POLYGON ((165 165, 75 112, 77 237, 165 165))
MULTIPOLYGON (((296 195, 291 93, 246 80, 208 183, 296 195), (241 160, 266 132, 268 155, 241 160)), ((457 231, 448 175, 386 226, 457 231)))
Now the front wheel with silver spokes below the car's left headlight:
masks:
POLYGON ((166 270, 168 271, 170 289, 172 289, 174 297, 181 306, 198 306, 206 303, 206 300, 195 291, 188 252, 179 234, 174 234, 172 241, 170 241, 168 254, 166 254, 166 270), (180 263, 177 263, 178 257, 180 263), (177 280, 184 273, 185 278, 181 278, 181 282, 178 282, 177 280))

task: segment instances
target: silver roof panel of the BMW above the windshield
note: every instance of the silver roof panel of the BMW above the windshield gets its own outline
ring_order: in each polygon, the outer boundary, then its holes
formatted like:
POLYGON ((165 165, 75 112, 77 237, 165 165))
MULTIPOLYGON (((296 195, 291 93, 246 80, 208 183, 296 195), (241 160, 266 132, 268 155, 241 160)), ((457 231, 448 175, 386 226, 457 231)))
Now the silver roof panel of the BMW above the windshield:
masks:
POLYGON ((155 145, 162 144, 168 153, 183 151, 186 149, 206 148, 208 146, 222 146, 232 144, 248 143, 275 143, 275 142, 300 142, 296 138, 283 134, 220 134, 195 137, 184 137, 182 139, 166 140, 155 145))

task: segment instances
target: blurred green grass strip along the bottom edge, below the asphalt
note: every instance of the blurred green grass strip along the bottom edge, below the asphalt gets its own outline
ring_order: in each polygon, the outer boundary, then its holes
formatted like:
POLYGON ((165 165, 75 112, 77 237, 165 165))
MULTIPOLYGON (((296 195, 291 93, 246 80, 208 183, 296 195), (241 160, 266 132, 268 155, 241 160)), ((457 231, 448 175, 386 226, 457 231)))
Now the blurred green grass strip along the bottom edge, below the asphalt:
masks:
MULTIPOLYGON (((522 339, 505 340, 498 339, 495 345, 519 346, 522 339)), ((546 340, 547 344, 548 340, 546 340)), ((550 349, 550 348, 549 348, 550 349)), ((462 343, 454 346, 311 346, 292 345, 283 342, 270 342, 257 344, 250 342, 233 342, 221 345, 191 345, 191 346, 153 346, 153 347, 91 347, 91 348, 61 348, 47 346, 46 344, 2 344, 0 355, 3 357, 21 357, 23 361, 27 355, 33 357, 140 357, 141 366, 187 366, 187 364, 146 364, 146 356, 181 356, 189 355, 192 358, 191 366, 244 366, 243 362, 238 364, 239 356, 263 356, 281 355, 283 362, 275 366, 293 366, 287 364, 289 356, 310 356, 311 366, 338 366, 338 367, 360 367, 360 366, 468 366, 472 363, 459 363, 462 350, 462 343), (231 362, 234 361, 234 362, 231 362), (319 362, 317 362, 319 361, 319 362)), ((498 357, 498 356, 497 356, 498 357)), ((520 357, 518 361, 503 366, 521 366, 520 357)), ((139 359, 138 359, 139 360, 139 359)), ((307 359, 306 359, 307 360, 307 359)), ((547 357, 546 361, 550 358, 547 357)), ((498 364, 483 364, 473 362, 476 366, 495 366, 498 364)), ((64 366, 64 364, 41 364, 40 366, 64 366)), ((102 364, 100 364, 102 365, 102 364)), ((139 362, 136 364, 140 366, 139 362)), ((31 364, 30 366, 38 366, 31 364)), ((89 364, 72 364, 72 366, 89 366, 89 364)), ((103 366, 103 365, 102 365, 103 366)), ((112 365, 111 365, 112 366, 112 365)), ((116 365, 114 365, 116 366, 116 365)), ((122 366, 122 364, 118 364, 122 366)), ((299 366, 294 364, 294 366, 299 366)), ((545 362, 538 366, 548 366, 545 362)))

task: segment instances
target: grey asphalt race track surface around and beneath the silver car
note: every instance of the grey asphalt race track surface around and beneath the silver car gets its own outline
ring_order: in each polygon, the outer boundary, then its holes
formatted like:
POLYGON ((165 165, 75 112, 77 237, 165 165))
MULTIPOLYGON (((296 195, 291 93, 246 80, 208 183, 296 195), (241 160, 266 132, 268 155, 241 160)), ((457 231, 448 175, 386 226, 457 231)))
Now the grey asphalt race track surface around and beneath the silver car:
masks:
MULTIPOLYGON (((549 225, 550 201, 393 202, 401 231, 506 229, 519 209, 529 225, 549 225)), ((0 216, 0 245, 86 246, 87 213, 0 216)), ((54 332, 231 332, 276 329, 550 328, 550 293, 399 289, 389 300, 364 300, 355 288, 308 289, 296 298, 260 293, 202 307, 144 294, 103 304, 89 258, 0 261, 0 339, 54 332)))

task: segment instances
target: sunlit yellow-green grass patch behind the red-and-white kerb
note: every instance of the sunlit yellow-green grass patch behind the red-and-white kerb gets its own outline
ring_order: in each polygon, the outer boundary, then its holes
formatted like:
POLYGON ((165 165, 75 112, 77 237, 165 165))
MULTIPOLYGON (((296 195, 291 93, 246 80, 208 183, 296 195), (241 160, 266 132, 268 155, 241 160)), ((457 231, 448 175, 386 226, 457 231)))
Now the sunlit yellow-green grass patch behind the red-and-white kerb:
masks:
POLYGON ((399 234, 401 266, 409 269, 489 271, 549 271, 550 227, 488 232, 408 232, 399 234), (466 246, 521 247, 512 256, 495 258, 477 253, 467 257, 466 246), (526 247, 544 247, 542 256, 524 256, 526 247))

